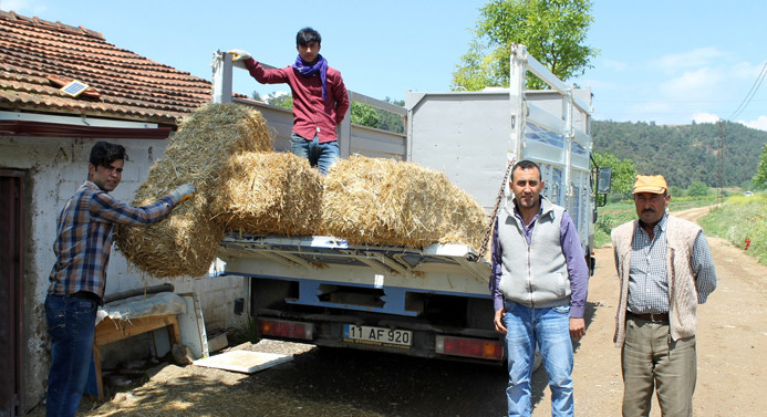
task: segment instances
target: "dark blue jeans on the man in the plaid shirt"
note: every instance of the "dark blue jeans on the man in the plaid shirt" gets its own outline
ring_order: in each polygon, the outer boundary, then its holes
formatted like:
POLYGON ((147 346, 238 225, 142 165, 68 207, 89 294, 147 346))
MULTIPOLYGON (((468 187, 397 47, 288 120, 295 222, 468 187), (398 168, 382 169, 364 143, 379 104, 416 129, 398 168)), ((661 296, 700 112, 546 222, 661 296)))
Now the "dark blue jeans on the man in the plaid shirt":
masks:
POLYGON ((74 416, 85 390, 93 362, 96 301, 72 294, 45 298, 51 335, 51 373, 48 376, 45 416, 74 416))

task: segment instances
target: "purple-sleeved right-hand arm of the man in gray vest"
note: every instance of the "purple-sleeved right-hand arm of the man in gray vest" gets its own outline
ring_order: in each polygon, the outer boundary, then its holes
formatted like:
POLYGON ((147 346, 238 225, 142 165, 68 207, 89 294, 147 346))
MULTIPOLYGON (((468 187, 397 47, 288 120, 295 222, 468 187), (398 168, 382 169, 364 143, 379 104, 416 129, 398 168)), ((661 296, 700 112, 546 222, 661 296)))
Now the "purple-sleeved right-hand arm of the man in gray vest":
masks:
POLYGON ((560 240, 570 275, 570 335, 579 338, 585 334, 583 313, 589 293, 589 268, 585 264, 576 225, 567 211, 562 213, 560 240))

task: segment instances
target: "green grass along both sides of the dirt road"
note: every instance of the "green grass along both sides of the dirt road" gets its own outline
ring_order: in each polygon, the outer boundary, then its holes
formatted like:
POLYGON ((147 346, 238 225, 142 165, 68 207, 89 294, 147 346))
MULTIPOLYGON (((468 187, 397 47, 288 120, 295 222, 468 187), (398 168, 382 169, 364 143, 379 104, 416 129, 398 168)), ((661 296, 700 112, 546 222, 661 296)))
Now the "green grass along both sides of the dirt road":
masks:
MULTIPOLYGON (((716 196, 677 197, 672 196, 670 211, 711 206, 716 204, 716 196)), ((745 249, 759 263, 767 264, 767 195, 755 194, 746 197, 734 194, 724 204, 713 209, 698 220, 706 236, 727 239, 737 248, 745 249)), ((610 243, 610 231, 636 218, 636 210, 631 200, 609 204, 599 209, 594 225, 594 244, 610 243)))

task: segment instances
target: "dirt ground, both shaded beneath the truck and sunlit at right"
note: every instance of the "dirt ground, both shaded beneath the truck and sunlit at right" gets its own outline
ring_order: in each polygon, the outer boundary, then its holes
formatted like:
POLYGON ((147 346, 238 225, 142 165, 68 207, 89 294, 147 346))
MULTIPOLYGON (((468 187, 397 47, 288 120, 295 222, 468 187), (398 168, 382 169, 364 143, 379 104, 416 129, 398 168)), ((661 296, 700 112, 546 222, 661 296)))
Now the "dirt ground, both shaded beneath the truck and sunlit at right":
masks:
MULTIPOLYGON (((678 215, 694 220, 706 210, 678 215)), ((764 416, 767 267, 721 239, 708 242, 718 288, 698 309, 695 415, 764 416)), ((576 343, 576 410, 610 417, 620 415, 623 392, 612 344, 618 281, 612 248, 598 249, 597 259, 588 331, 576 343)), ((539 369, 533 379, 533 416, 550 416, 546 375, 539 369)), ((505 385, 497 366, 322 348, 250 376, 167 365, 146 383, 91 405, 95 409, 83 402, 79 416, 502 416, 505 385)), ((660 416, 656 405, 651 416, 660 416)))

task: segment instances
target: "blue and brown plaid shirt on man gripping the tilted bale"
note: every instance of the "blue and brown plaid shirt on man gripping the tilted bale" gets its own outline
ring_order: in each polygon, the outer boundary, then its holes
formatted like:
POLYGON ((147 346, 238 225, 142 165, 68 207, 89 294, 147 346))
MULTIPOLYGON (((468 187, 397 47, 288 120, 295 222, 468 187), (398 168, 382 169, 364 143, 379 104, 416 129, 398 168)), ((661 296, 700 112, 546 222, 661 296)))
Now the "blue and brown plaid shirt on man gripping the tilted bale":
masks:
POLYGON ((90 291, 103 298, 116 225, 157 222, 175 205, 170 196, 165 196, 149 206, 131 207, 85 181, 56 220, 58 238, 53 243, 56 262, 49 277, 49 294, 90 291))

